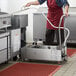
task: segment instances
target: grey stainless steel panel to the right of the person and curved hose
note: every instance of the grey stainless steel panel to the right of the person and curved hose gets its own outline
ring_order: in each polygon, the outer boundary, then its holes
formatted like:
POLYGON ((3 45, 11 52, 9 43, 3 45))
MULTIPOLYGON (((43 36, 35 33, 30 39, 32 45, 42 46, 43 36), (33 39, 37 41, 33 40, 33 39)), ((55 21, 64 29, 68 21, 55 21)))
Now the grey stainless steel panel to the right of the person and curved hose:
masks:
POLYGON ((70 15, 65 18, 65 27, 70 30, 70 36, 67 42, 76 43, 76 15, 70 15))

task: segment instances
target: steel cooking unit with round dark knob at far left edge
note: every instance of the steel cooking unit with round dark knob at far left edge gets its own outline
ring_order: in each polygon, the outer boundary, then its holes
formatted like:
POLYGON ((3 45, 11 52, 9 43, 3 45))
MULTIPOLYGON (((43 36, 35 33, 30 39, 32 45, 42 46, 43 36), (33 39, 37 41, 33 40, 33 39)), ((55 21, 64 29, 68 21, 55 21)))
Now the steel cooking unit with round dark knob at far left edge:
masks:
POLYGON ((11 26, 11 15, 0 12, 0 63, 6 62, 11 58, 10 33, 4 28, 11 26))

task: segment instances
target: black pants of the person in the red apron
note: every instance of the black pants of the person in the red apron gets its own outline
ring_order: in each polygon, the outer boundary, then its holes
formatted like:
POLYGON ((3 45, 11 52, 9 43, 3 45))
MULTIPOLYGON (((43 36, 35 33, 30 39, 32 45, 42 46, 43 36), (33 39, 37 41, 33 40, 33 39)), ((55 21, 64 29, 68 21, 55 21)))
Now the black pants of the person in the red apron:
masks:
MULTIPOLYGON (((60 30, 61 33, 61 44, 64 42, 64 30, 60 30)), ((45 44, 46 45, 53 45, 55 44, 54 42, 54 37, 56 35, 56 44, 59 45, 59 30, 46 30, 46 39, 45 39, 45 44)))

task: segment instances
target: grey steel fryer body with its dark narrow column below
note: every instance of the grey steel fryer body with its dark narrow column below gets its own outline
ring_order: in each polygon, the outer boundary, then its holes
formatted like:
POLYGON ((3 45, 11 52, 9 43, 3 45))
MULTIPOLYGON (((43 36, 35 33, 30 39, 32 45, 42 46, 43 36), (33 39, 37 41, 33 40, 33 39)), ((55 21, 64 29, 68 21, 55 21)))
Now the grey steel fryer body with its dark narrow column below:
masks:
POLYGON ((26 26, 28 26, 28 15, 13 15, 11 19, 12 28, 21 28, 21 47, 26 44, 26 26))

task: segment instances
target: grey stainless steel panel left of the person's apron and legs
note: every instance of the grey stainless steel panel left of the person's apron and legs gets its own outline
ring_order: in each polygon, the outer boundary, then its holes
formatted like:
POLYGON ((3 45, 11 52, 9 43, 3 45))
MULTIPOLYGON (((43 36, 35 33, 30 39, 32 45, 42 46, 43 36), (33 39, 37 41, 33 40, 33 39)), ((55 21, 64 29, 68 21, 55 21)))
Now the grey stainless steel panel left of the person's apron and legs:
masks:
MULTIPOLYGON (((47 14, 45 14, 47 16, 47 14)), ((46 19, 41 13, 33 14, 33 39, 45 41, 46 19)))

